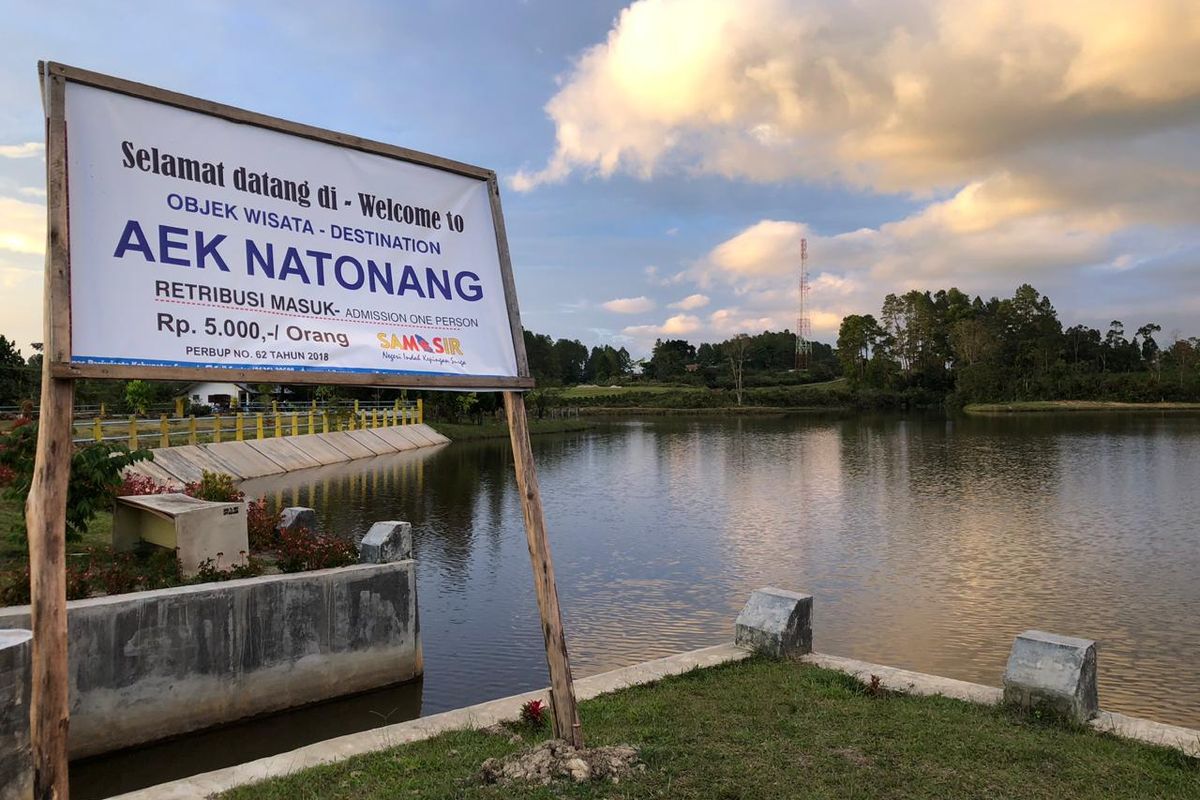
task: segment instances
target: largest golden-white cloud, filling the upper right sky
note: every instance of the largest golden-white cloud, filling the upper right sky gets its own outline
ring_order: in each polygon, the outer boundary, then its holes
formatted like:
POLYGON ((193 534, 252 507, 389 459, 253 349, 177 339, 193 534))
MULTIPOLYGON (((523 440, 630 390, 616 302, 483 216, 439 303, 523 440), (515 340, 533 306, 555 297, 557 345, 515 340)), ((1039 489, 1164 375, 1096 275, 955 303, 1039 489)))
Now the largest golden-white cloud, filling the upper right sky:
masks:
POLYGON ((514 185, 685 170, 919 193, 1007 172, 1040 201, 1130 203, 1147 179, 1104 176, 1195 164, 1198 94, 1184 0, 641 0, 563 78, 554 154, 514 185))

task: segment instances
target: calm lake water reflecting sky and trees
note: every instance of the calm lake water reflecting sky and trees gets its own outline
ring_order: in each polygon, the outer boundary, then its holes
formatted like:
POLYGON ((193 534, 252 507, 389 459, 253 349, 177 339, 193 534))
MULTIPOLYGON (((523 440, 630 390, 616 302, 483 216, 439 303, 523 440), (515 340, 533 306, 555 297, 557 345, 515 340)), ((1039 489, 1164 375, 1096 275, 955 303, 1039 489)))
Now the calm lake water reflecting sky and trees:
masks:
MULTIPOLYGON (((577 675, 727 640, 773 584, 815 596, 821 651, 989 685, 1022 630, 1094 638, 1104 708, 1200 727, 1200 417, 658 417, 534 450, 577 675)), ((548 682, 506 440, 244 488, 346 536, 413 523, 424 682, 320 706, 338 733, 548 682)), ((260 724, 157 760, 331 735, 260 724)))

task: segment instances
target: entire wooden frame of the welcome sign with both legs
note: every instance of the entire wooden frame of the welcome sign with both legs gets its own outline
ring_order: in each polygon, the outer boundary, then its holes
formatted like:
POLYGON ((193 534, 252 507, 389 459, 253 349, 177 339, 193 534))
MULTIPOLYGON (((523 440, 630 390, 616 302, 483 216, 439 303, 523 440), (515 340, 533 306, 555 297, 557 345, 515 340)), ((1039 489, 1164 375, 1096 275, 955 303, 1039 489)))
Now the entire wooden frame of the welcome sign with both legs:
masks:
POLYGON ((46 291, 44 361, 41 387, 41 423, 34 480, 25 506, 29 534, 30 591, 34 628, 30 735, 34 750, 34 796, 66 800, 68 662, 66 610, 66 500, 72 455, 74 380, 80 378, 212 380, 240 383, 337 384, 437 390, 494 390, 504 392, 504 408, 512 443, 514 467, 521 492, 529 559, 546 644, 551 678, 554 733, 582 746, 582 730, 571 679, 570 660, 558 604, 554 567, 546 537, 538 475, 524 408, 523 390, 533 389, 524 350, 516 283, 504 229, 500 192, 491 169, 428 154, 372 142, 299 122, 257 114, 233 106, 181 95, 112 76, 56 62, 38 62, 38 80, 46 112, 46 291), (71 359, 71 240, 67 196, 66 84, 106 89, 142 100, 217 116, 242 125, 313 139, 409 163, 432 167, 485 181, 509 314, 516 377, 430 375, 402 373, 292 372, 222 367, 175 367, 79 363, 71 359))

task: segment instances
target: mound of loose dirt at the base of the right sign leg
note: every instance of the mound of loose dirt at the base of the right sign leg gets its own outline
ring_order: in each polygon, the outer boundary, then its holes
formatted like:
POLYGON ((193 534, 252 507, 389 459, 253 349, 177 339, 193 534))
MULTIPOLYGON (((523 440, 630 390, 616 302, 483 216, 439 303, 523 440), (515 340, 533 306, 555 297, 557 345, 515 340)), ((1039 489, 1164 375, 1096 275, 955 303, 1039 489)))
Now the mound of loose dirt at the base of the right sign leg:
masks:
POLYGON ((488 758, 479 770, 479 778, 484 783, 502 786, 517 781, 546 786, 559 780, 620 783, 623 777, 644 769, 646 765, 637 759, 637 750, 629 745, 576 750, 560 739, 551 739, 504 760, 488 758))

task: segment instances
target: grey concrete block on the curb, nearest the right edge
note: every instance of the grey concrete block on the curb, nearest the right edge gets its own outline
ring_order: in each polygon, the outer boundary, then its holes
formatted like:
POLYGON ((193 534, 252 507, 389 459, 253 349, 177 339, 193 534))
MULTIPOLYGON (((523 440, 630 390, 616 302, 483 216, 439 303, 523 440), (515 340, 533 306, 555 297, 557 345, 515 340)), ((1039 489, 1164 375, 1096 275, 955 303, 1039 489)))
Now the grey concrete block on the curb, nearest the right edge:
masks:
POLYGON ((1004 669, 1004 703, 1070 722, 1094 717, 1096 642, 1044 631, 1018 636, 1004 669))

